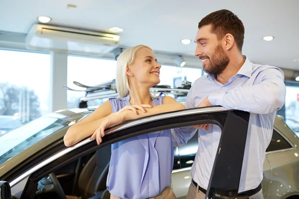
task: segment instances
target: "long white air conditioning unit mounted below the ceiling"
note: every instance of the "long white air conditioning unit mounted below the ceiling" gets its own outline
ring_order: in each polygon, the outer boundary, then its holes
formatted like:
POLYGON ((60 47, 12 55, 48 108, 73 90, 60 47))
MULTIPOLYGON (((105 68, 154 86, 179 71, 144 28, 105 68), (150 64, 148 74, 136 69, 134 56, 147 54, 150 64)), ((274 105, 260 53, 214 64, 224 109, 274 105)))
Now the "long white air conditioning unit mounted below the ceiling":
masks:
POLYGON ((119 45, 120 36, 102 32, 34 24, 26 48, 79 54, 104 54, 119 45))

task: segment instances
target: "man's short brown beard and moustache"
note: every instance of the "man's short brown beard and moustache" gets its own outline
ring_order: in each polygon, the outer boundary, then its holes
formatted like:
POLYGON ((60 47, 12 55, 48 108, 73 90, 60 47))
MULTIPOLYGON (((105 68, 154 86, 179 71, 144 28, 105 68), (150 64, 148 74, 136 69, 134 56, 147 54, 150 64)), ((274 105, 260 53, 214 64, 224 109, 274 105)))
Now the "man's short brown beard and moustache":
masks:
MULTIPOLYGON (((225 54, 223 48, 218 45, 211 58, 208 56, 199 56, 199 59, 208 59, 206 66, 203 65, 203 70, 208 74, 221 74, 229 64, 229 58, 225 54)), ((206 61, 206 62, 207 62, 206 61)))

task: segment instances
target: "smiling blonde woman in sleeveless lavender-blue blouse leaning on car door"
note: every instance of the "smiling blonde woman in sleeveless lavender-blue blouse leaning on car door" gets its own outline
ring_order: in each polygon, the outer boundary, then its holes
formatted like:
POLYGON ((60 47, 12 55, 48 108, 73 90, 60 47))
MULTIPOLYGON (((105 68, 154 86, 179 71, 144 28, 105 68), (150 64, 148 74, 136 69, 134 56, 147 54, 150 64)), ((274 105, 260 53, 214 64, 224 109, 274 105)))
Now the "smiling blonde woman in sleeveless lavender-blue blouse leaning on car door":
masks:
MULTIPOLYGON (((64 136, 71 146, 89 135, 102 142, 104 130, 127 120, 184 109, 171 97, 150 95, 159 84, 161 65, 152 50, 138 45, 122 52, 117 61, 116 86, 120 98, 110 99, 89 117, 74 124, 64 136)), ((107 189, 111 199, 175 199, 169 185, 173 167, 171 131, 163 130, 112 144, 107 189)))

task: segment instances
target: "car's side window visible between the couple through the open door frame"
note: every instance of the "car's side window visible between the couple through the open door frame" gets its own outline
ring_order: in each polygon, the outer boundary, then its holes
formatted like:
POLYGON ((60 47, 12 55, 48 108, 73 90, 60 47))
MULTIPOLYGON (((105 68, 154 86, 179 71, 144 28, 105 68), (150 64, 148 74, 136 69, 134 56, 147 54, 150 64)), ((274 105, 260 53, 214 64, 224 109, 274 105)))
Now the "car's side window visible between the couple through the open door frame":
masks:
POLYGON ((179 154, 181 168, 187 168, 192 166, 197 149, 198 149, 198 135, 196 131, 193 137, 190 140, 188 140, 186 145, 178 147, 178 154, 179 154))

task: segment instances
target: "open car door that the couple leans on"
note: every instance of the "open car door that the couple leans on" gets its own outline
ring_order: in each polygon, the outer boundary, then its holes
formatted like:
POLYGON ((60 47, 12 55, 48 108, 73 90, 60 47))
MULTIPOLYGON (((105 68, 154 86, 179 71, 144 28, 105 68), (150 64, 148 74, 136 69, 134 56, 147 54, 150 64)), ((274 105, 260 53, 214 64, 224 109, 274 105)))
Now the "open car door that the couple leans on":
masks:
MULTIPOLYGON (((28 178, 21 198, 33 199, 37 183, 41 178, 101 147, 159 130, 213 123, 220 126, 222 135, 206 197, 208 199, 237 198, 249 115, 248 112, 240 110, 226 110, 221 106, 212 106, 174 111, 129 121, 106 129, 107 134, 100 145, 86 138, 72 147, 61 146, 61 150, 40 161, 34 167, 18 175, 7 175, 7 181, 13 188, 28 178)), ((63 142, 59 145, 63 145, 63 142)))

